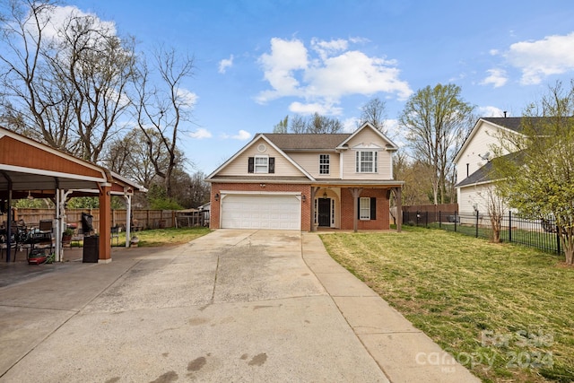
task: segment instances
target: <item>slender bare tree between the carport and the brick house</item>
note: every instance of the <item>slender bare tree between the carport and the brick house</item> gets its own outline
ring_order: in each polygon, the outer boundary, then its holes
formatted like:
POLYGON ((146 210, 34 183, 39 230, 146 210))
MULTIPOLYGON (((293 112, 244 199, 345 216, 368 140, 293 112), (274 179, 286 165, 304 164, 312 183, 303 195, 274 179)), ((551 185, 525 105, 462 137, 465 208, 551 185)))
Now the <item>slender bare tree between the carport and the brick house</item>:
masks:
POLYGON ((142 65, 135 83, 137 97, 134 100, 137 124, 146 136, 145 143, 155 172, 163 179, 168 197, 172 196, 171 173, 178 165, 178 133, 181 124, 189 121, 195 102, 193 94, 183 87, 185 80, 193 74, 194 60, 178 57, 174 49, 159 48, 154 52, 153 69, 161 78, 161 85, 152 85, 152 71, 142 65), (160 141, 156 147, 150 129, 158 133, 160 141), (159 151, 158 151, 159 149, 159 151), (159 152, 168 158, 163 166, 159 152))

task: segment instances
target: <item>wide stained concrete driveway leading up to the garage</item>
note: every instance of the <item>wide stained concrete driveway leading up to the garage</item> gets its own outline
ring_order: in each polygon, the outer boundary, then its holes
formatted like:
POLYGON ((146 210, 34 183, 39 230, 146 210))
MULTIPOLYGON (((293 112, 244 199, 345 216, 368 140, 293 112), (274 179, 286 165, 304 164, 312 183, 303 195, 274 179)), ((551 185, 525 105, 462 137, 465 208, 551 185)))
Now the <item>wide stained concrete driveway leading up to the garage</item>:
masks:
POLYGON ((219 230, 112 258, 22 265, 54 268, 0 287, 0 381, 479 381, 315 234, 219 230))

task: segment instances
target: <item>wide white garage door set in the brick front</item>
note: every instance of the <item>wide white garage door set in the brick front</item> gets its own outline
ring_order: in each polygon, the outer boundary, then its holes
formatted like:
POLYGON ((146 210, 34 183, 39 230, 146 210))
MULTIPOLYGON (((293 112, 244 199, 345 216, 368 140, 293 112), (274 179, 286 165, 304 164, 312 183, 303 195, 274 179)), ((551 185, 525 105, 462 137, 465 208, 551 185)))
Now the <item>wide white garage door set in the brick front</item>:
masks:
POLYGON ((299 196, 227 195, 222 198, 223 229, 300 230, 299 196))

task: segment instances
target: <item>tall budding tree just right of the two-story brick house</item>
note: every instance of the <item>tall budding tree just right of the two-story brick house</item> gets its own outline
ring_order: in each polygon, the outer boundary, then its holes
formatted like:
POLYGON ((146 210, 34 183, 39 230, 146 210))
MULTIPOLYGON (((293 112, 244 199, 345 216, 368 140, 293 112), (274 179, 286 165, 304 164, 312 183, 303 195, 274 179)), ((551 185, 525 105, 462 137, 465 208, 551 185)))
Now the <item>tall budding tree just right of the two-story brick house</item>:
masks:
POLYGON ((455 84, 427 86, 411 96, 399 118, 415 158, 432 169, 430 180, 435 205, 446 201, 453 159, 472 127, 474 107, 461 98, 460 91, 455 84))

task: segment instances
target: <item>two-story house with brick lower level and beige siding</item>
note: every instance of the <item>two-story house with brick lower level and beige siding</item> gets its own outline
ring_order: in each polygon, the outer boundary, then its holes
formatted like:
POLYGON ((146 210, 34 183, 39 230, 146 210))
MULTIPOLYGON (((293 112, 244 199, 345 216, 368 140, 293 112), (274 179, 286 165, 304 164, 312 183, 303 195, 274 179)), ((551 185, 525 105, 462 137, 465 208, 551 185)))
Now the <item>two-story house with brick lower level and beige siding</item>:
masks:
MULTIPOLYGON (((389 229, 396 144, 365 124, 352 134, 257 134, 206 178, 212 229, 389 229)), ((400 230, 400 222, 397 222, 400 230)))

